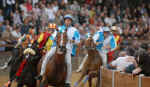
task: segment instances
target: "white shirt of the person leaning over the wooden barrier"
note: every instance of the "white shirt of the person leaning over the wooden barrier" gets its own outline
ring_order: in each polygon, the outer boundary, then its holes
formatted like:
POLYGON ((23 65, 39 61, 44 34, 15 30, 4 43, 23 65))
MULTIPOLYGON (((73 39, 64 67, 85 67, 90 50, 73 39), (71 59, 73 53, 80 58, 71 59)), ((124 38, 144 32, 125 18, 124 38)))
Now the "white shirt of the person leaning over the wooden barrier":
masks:
MULTIPOLYGON (((129 56, 125 57, 119 57, 116 60, 114 60, 111 64, 112 66, 116 66, 117 70, 123 71, 126 67, 133 64, 133 62, 128 61, 129 56)), ((132 57, 134 58, 134 57, 132 57)))

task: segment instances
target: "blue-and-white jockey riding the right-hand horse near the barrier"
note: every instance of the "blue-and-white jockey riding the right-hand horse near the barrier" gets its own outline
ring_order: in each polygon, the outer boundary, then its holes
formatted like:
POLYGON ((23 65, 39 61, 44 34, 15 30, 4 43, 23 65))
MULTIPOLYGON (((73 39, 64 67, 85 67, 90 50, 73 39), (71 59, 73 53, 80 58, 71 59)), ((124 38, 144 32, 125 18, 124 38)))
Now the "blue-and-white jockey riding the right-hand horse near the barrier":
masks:
POLYGON ((104 66, 107 65, 107 53, 116 48, 115 38, 108 27, 103 27, 103 31, 98 31, 93 36, 97 50, 102 56, 104 66))

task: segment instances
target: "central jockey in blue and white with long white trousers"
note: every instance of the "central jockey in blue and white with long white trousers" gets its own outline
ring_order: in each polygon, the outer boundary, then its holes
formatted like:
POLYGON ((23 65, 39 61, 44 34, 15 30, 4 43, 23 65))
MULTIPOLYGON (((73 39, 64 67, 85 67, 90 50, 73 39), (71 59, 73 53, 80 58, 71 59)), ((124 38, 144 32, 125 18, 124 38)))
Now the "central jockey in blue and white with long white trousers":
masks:
MULTIPOLYGON (((71 24, 73 22, 73 17, 70 14, 67 14, 64 16, 64 25, 58 27, 58 31, 54 32, 54 36, 57 35, 57 32, 64 33, 65 31, 67 32, 67 37, 68 37, 68 42, 66 44, 67 48, 67 53, 66 53, 66 63, 67 63, 67 79, 66 79, 66 87, 70 87, 70 78, 72 74, 72 64, 71 64, 71 55, 75 54, 73 46, 75 44, 80 43, 80 34, 79 31, 73 27, 71 24)), ((55 37, 53 37, 55 39, 55 37)), ((56 51, 56 46, 52 47, 49 52, 46 53, 45 59, 42 63, 42 69, 40 76, 38 76, 36 79, 40 80, 42 75, 45 72, 45 67, 47 64, 47 61, 51 58, 51 56, 55 53, 56 51)))

